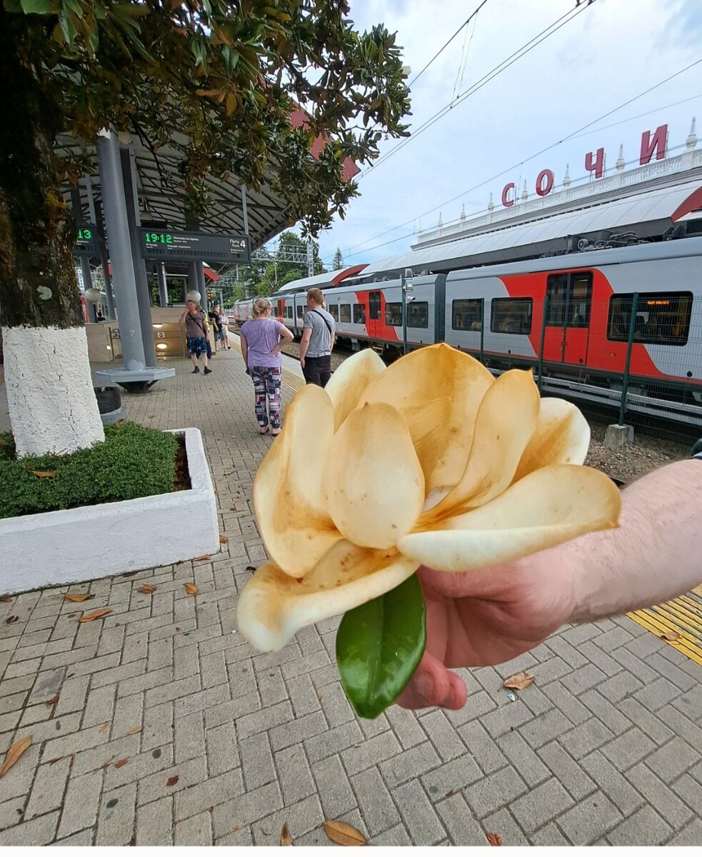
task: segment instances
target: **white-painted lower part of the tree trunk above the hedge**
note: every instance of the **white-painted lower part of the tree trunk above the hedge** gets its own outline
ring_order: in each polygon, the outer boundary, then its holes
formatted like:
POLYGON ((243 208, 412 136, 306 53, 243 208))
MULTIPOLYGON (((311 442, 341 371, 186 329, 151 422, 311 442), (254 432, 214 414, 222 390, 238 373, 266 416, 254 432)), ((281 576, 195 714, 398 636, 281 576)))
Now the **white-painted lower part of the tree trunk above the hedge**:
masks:
POLYGON ((63 455, 105 440, 84 327, 3 327, 17 456, 63 455))

